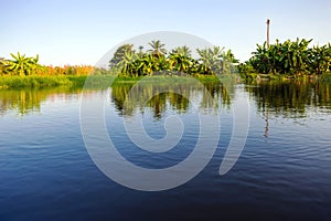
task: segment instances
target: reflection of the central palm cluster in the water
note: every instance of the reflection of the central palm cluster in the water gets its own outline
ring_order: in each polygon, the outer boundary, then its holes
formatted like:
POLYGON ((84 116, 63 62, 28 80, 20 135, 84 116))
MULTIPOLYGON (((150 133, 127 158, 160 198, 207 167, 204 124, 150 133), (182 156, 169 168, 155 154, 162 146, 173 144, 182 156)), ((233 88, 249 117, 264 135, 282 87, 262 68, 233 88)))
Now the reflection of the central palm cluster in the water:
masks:
POLYGON ((168 108, 179 114, 189 112, 191 103, 205 112, 217 112, 214 101, 229 105, 228 93, 220 83, 124 84, 111 86, 111 102, 122 116, 132 116, 136 110, 143 113, 145 108, 149 108, 154 118, 161 118, 168 108))

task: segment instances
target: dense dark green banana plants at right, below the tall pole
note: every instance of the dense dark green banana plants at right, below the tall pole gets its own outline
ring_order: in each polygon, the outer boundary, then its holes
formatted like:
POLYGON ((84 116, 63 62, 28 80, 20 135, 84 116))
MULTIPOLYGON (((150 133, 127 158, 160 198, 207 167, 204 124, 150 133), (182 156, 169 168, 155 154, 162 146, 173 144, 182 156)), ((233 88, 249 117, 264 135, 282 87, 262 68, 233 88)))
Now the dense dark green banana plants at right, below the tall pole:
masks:
POLYGON ((267 46, 257 44, 253 56, 239 65, 244 73, 287 74, 322 74, 331 69, 331 44, 309 48, 312 40, 287 40, 267 46))

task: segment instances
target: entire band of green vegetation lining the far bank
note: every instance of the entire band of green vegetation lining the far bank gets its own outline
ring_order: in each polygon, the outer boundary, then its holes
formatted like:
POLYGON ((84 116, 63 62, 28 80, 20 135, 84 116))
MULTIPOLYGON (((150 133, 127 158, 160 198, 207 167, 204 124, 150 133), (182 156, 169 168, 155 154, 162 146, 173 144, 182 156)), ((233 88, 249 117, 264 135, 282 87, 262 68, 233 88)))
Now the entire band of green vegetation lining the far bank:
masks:
MULTIPOLYGON (((239 73, 244 81, 250 81, 297 78, 331 72, 331 44, 309 48, 311 41, 297 39, 281 43, 276 40, 275 44, 257 44, 253 56, 244 63, 238 63, 232 51, 224 48, 195 49, 199 57, 193 59, 188 46, 167 51, 159 40, 151 41, 148 50, 139 46, 137 51, 134 44, 119 46, 109 61, 109 69, 90 65, 44 66, 38 63, 38 55, 28 57, 18 53, 11 54, 12 60, 0 59, 0 88, 83 86, 87 75, 94 75, 95 83, 103 83, 100 76, 119 76, 116 80, 118 83, 158 75, 190 75, 200 81, 217 81, 239 73)), ((321 78, 330 80, 330 74, 321 78)))

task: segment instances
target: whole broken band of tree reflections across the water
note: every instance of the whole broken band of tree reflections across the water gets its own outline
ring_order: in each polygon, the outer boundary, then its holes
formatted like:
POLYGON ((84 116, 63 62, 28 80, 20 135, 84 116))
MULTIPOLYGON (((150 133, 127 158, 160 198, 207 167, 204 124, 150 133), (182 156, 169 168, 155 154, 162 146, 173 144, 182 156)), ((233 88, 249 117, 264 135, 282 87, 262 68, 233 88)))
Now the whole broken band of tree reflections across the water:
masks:
MULTIPOLYGON (((246 85, 245 90, 256 102, 257 110, 268 119, 269 116, 302 118, 307 117, 308 113, 330 113, 330 83, 323 82, 264 82, 258 85, 246 85)), ((148 108, 154 118, 161 118, 162 113, 167 109, 179 114, 190 112, 192 104, 205 112, 218 110, 214 101, 217 101, 218 105, 229 107, 231 102, 235 98, 235 85, 225 88, 222 83, 215 82, 204 84, 191 82, 115 84, 111 85, 110 101, 121 116, 132 116, 135 112, 143 113, 148 108), (210 93, 213 99, 209 98, 206 93, 210 93)), ((93 92, 96 90, 90 88, 89 91, 93 98, 93 92)), ((6 115, 8 112, 19 115, 40 112, 41 103, 45 101, 52 102, 58 95, 70 99, 72 94, 81 94, 81 92, 82 88, 68 86, 1 90, 0 115, 6 115)), ((268 122, 266 125, 268 126, 268 122)))

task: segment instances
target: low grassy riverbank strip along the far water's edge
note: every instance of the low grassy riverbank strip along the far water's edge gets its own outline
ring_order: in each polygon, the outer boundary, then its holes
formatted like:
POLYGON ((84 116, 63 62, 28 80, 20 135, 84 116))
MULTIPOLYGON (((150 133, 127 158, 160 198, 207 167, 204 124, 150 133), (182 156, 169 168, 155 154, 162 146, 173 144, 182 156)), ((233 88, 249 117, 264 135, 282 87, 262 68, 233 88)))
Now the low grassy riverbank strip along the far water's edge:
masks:
MULTIPOLYGON (((190 83, 193 77, 190 76, 139 76, 139 77, 127 77, 127 76, 113 76, 113 75, 90 75, 88 76, 88 85, 85 84, 87 75, 55 75, 55 76, 0 76, 0 90, 7 88, 43 88, 43 87, 55 87, 55 86, 97 86, 97 87, 108 87, 109 84, 135 84, 138 81, 148 83, 190 83)), ((201 83, 207 82, 264 82, 264 81, 306 81, 306 80, 318 80, 323 82, 331 82, 331 72, 324 73, 322 75, 303 75, 300 77, 289 77, 284 75, 265 75, 265 74, 241 74, 238 75, 222 75, 221 77, 214 75, 196 75, 194 80, 201 83)))

